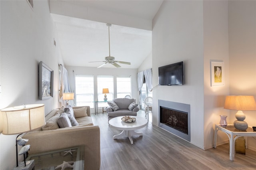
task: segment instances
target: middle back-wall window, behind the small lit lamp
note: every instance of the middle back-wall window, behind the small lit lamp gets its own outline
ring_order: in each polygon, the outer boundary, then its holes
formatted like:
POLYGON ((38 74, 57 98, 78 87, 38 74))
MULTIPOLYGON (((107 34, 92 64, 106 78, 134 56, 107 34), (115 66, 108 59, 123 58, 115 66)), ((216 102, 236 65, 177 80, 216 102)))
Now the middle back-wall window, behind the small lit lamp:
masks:
MULTIPOLYGON (((107 101, 112 101, 114 99, 114 78, 110 75, 98 75, 97 76, 97 86, 98 86, 98 101, 104 101, 104 95, 102 89, 108 88, 109 93, 107 93, 107 101)), ((107 107, 108 103, 98 103, 98 107, 107 107)))

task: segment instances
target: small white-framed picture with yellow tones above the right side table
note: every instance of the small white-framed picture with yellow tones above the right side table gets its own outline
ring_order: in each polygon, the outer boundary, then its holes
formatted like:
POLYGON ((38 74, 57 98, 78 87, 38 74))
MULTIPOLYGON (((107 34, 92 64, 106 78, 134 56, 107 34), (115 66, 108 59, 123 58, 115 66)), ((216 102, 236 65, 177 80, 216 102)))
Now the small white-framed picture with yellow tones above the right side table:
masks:
POLYGON ((224 85, 224 62, 211 61, 211 86, 224 85))

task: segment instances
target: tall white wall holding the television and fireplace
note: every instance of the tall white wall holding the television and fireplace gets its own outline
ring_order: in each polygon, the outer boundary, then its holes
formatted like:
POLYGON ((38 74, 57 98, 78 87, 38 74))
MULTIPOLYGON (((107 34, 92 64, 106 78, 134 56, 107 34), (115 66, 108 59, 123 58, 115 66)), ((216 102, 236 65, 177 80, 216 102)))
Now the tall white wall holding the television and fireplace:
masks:
POLYGON ((191 143, 204 148, 203 2, 164 1, 152 25, 153 84, 158 67, 178 61, 184 61, 185 82, 154 89, 152 123, 158 125, 158 99, 189 104, 191 143))

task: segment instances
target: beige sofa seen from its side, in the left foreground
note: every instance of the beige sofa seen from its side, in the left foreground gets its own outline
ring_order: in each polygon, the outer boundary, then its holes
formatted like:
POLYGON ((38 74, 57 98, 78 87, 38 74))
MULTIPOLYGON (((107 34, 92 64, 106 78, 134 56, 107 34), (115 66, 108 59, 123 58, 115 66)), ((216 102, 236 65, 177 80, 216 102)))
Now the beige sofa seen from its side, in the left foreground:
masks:
MULTIPOLYGON (((94 126, 90 117, 90 106, 87 107, 87 117, 76 118, 78 126, 57 128, 54 130, 37 129, 26 133, 22 138, 30 144, 28 154, 84 145, 84 170, 100 169, 100 128, 94 126)), ((79 109, 82 107, 73 107, 79 109)), ((45 118, 46 122, 60 109, 54 109, 45 118)), ((44 128, 45 129, 45 128, 44 128)))

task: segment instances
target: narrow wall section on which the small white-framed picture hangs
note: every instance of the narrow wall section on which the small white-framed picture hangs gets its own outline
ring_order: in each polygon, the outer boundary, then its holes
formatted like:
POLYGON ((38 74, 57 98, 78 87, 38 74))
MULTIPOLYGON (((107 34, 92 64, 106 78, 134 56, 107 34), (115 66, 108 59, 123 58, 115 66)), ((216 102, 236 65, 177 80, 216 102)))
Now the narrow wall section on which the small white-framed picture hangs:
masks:
MULTIPOLYGON (((204 149, 212 148, 215 124, 220 123, 220 115, 227 115, 223 109, 225 97, 229 95, 228 58, 228 2, 204 1, 204 149), (210 61, 224 62, 224 86, 210 84, 210 61)), ((217 144, 227 142, 224 133, 218 133, 217 144)))

